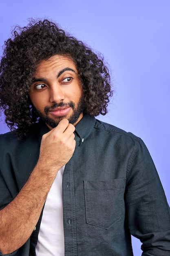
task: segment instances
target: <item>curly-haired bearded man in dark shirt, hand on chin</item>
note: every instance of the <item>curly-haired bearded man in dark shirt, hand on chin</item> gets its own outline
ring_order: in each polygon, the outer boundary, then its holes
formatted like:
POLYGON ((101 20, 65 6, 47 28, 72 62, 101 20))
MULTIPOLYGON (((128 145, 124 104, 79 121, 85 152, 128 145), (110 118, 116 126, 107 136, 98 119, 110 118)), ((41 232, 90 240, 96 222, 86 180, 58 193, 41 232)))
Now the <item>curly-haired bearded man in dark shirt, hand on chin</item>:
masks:
POLYGON ((49 20, 5 43, 0 255, 170 255, 170 211, 144 143, 95 116, 113 92, 103 59, 49 20))

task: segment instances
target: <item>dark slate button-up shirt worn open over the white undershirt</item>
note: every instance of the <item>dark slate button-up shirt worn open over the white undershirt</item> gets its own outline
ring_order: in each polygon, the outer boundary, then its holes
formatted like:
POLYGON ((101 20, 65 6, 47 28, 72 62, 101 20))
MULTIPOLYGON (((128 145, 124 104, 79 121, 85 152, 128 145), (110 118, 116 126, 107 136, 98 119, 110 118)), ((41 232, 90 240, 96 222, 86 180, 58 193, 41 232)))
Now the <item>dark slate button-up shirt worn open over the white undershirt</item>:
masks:
MULTIPOLYGON (((48 131, 40 121, 22 143, 13 132, 0 136, 1 209, 28 179, 48 131)), ((170 210, 144 142, 89 115, 75 140, 62 182, 65 256, 132 256, 131 235, 143 256, 170 256, 170 210)), ((11 255, 35 256, 39 227, 11 255)))

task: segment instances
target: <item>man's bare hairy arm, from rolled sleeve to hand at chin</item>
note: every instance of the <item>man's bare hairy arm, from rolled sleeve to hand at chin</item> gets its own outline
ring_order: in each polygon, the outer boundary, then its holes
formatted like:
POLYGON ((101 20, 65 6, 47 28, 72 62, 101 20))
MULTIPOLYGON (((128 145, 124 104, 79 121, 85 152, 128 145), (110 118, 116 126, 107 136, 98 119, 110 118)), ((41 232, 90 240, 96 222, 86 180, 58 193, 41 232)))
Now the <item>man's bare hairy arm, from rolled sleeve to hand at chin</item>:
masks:
POLYGON ((63 119, 42 137, 38 163, 20 193, 0 211, 0 251, 9 254, 31 236, 57 171, 75 150, 75 127, 63 119), (56 158, 57 155, 57 158, 56 158))

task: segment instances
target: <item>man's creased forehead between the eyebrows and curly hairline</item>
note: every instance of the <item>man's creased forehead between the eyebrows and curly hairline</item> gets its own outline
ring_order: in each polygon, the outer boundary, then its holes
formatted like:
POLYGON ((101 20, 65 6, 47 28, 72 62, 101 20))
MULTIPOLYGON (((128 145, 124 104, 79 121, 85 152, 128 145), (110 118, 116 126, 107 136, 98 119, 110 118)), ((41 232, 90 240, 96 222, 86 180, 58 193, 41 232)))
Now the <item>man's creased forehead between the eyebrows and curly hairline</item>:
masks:
POLYGON ((49 59, 40 61, 35 70, 35 74, 50 72, 52 70, 60 71, 65 67, 73 68, 75 72, 77 72, 76 65, 71 57, 56 54, 49 59))

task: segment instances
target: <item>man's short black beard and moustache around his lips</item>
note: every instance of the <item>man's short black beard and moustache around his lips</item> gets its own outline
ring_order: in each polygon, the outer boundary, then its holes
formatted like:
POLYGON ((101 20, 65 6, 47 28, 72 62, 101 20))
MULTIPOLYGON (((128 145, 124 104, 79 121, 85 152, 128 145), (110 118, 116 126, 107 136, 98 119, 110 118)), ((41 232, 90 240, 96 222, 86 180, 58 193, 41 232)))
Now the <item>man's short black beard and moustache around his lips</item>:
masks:
POLYGON ((42 119, 51 128, 55 128, 59 124, 59 122, 66 117, 61 116, 61 117, 57 117, 56 118, 57 120, 54 120, 48 116, 49 110, 52 110, 52 109, 58 108, 58 107, 64 107, 64 106, 69 106, 73 109, 73 114, 67 119, 70 124, 75 124, 76 121, 78 120, 79 116, 84 111, 83 96, 79 99, 79 102, 77 103, 77 107, 75 107, 75 103, 73 103, 73 101, 70 101, 68 103, 63 103, 63 102, 61 102, 59 104, 54 103, 51 107, 45 107, 44 112, 40 112, 40 110, 36 109, 35 107, 34 108, 35 108, 36 115, 38 117, 40 117, 40 119, 42 119))

